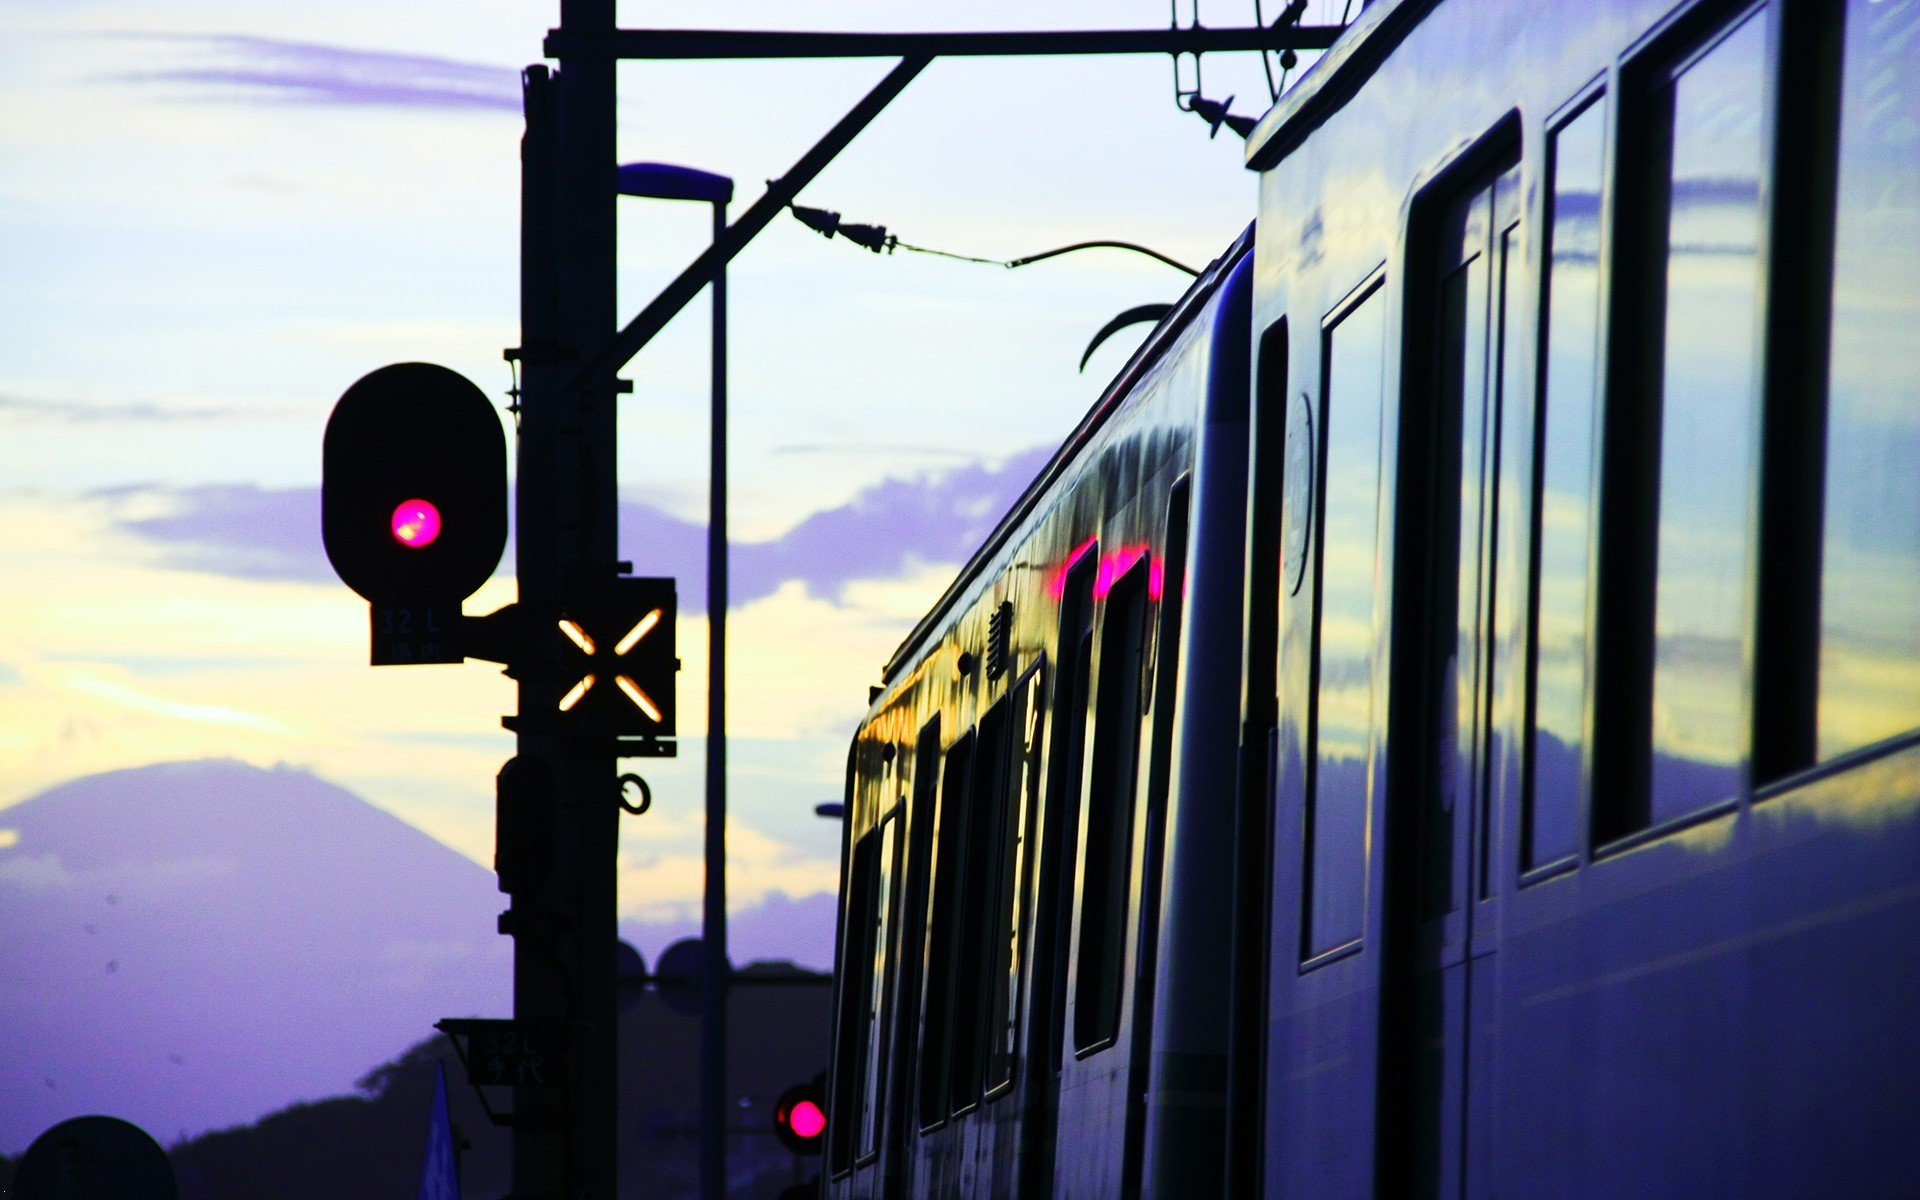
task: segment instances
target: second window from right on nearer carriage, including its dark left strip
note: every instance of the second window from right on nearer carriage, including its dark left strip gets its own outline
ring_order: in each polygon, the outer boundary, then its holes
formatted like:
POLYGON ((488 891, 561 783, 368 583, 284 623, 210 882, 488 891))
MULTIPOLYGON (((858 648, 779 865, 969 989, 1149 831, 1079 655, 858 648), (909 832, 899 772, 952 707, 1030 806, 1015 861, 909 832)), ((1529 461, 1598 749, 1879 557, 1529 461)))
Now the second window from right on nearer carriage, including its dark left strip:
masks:
POLYGON ((1659 253, 1634 265, 1615 307, 1632 321, 1609 405, 1597 703, 1619 745, 1596 747, 1599 839, 1745 787, 1766 42, 1759 6, 1634 71, 1622 244, 1659 253))

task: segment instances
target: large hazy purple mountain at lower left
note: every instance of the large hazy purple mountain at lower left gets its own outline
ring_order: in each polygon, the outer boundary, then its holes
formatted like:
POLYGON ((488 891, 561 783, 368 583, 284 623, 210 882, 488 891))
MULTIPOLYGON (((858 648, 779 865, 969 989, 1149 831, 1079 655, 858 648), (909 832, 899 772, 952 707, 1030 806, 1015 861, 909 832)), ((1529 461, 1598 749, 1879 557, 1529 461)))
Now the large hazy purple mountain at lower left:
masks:
POLYGON ((307 772, 109 772, 0 828, 0 1152, 94 1112, 248 1123, 509 1012, 493 874, 307 772))

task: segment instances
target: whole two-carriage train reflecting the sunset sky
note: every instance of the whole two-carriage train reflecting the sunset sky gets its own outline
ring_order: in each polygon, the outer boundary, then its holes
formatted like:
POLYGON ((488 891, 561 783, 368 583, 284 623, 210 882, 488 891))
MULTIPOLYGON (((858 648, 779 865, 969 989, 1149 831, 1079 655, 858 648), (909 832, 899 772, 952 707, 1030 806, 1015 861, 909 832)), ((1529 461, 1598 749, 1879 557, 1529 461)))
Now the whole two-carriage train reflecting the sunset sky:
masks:
POLYGON ((1365 8, 876 689, 828 1194, 1920 1192, 1914 61, 1365 8))

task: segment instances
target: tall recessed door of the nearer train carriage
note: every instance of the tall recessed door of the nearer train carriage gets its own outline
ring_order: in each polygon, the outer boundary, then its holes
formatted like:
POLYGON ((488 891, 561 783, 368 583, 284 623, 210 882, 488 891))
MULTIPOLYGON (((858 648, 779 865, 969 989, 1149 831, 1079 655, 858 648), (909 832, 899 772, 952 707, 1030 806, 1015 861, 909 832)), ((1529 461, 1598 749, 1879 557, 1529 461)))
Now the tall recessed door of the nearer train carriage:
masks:
POLYGON ((1490 712, 1507 660, 1496 637, 1511 624, 1494 611, 1507 524, 1500 417, 1517 332, 1507 296, 1521 269, 1519 190, 1517 165, 1480 175, 1430 205, 1427 236, 1415 230, 1413 242, 1427 271, 1409 273, 1400 430, 1380 1196, 1457 1200, 1467 1190, 1471 1050, 1488 1027, 1475 1002, 1492 995, 1490 712))

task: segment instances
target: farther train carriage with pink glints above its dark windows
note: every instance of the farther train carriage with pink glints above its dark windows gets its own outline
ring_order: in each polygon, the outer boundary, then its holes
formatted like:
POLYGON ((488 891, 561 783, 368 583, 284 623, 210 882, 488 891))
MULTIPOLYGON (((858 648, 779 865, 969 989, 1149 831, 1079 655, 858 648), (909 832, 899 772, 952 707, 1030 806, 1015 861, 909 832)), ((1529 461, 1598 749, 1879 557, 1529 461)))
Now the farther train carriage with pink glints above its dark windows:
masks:
POLYGON ((1146 1046, 1156 1020, 1223 1008, 1192 987, 1223 945, 1188 962, 1196 943, 1167 929, 1221 939, 1206 904, 1225 891, 1196 900, 1162 862, 1169 839, 1225 852, 1217 806, 1183 806, 1175 772, 1231 791, 1248 246, 1148 338, 874 689, 849 760, 829 1196, 1064 1200, 1139 1194, 1123 1179, 1146 1160, 1217 1173, 1223 1020, 1171 1068, 1187 1091, 1148 1094, 1146 1046))

